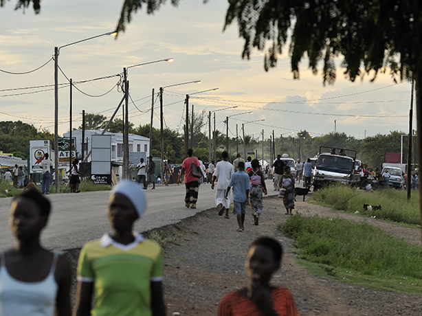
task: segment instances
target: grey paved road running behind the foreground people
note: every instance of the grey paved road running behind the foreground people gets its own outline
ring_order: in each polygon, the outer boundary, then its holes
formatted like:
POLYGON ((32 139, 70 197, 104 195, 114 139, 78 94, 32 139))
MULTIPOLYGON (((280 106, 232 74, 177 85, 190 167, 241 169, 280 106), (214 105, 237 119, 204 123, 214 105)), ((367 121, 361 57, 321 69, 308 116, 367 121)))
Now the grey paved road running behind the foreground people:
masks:
MULTIPOLYGON (((267 180, 269 195, 277 194, 273 183, 267 180)), ((178 223, 197 212, 208 210, 215 206, 215 191, 211 185, 201 185, 197 210, 184 206, 185 186, 157 185, 146 190, 148 208, 137 221, 135 229, 144 232, 148 229, 163 227, 178 223)), ((79 248, 89 240, 97 239, 109 232, 106 207, 109 199, 108 191, 85 192, 79 194, 50 194, 52 214, 48 227, 42 235, 42 242, 48 249, 62 250, 79 248)), ((12 198, 0 199, 0 251, 15 245, 14 237, 8 227, 8 218, 12 198)))

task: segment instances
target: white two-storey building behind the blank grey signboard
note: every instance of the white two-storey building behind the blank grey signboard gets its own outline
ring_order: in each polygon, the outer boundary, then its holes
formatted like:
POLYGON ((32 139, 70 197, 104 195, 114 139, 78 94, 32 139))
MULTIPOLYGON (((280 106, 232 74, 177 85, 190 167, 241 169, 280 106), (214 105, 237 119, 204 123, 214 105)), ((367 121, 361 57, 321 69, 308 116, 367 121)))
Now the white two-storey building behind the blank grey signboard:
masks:
MULTIPOLYGON (((85 156, 91 150, 91 136, 101 135, 102 130, 85 130, 85 156)), ((111 161, 115 163, 123 162, 123 134, 105 132, 104 135, 111 135, 111 161)), ((63 137, 69 137, 69 133, 64 133, 63 137)), ((71 132, 71 137, 76 139, 76 155, 82 157, 82 129, 71 132)), ((146 153, 149 156, 149 138, 129 134, 129 153, 146 153)), ((91 161, 89 158, 88 161, 91 161)))

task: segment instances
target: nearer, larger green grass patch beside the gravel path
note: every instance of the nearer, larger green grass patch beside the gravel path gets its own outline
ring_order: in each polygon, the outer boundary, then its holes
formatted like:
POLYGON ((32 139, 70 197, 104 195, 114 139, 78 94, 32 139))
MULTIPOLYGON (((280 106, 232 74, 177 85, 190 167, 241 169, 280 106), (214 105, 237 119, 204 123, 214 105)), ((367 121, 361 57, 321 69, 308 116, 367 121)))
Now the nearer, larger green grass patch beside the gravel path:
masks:
POLYGON ((374 289, 422 293, 421 247, 378 227, 296 214, 278 229, 296 240, 299 259, 320 275, 374 289))

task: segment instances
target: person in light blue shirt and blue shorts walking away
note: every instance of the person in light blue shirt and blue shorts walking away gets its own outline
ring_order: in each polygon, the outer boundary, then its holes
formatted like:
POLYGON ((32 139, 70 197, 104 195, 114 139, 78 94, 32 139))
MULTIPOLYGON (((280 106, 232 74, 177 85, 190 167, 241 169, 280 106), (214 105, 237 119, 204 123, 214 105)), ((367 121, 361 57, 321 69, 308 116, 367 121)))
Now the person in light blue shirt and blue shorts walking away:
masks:
POLYGON ((246 202, 249 198, 251 183, 249 176, 245 172, 245 163, 239 161, 237 168, 238 171, 234 172, 227 186, 227 190, 225 190, 225 199, 227 199, 227 195, 230 193, 230 188, 233 188, 233 214, 236 215, 238 223, 237 231, 243 232, 245 230, 246 202))

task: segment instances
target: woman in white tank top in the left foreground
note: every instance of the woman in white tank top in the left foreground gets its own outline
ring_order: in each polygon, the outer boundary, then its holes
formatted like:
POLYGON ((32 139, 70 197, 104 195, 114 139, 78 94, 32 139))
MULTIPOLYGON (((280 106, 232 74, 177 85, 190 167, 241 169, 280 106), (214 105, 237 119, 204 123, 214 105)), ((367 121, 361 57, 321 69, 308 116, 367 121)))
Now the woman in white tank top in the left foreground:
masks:
POLYGON ((1 316, 70 316, 71 272, 64 258, 40 245, 50 203, 38 190, 12 200, 10 229, 18 243, 0 254, 1 316))

